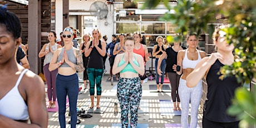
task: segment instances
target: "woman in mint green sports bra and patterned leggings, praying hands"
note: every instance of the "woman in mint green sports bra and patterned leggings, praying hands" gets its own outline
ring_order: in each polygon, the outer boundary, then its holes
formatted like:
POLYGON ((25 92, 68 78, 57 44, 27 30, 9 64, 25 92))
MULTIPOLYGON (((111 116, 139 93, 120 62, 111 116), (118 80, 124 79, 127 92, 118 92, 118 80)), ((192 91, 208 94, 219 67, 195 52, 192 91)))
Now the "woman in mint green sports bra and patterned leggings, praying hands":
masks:
POLYGON ((130 107, 131 127, 137 126, 138 107, 142 93, 140 75, 144 75, 144 60, 142 56, 133 52, 134 37, 125 38, 125 53, 116 56, 113 73, 120 72, 120 79, 117 83, 117 97, 121 107, 122 127, 128 127, 128 113, 130 107))

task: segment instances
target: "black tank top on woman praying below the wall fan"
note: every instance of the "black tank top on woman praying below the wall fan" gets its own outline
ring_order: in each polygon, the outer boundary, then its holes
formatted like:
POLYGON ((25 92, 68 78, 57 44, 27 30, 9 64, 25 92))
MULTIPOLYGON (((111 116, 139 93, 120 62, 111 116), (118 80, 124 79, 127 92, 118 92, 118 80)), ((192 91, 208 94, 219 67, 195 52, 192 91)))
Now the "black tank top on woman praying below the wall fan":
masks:
MULTIPOLYGON (((90 44, 90 47, 92 45, 92 41, 90 44)), ((101 48, 101 41, 99 41, 99 48, 101 48)), ((88 60, 88 66, 91 68, 104 68, 103 65, 103 56, 100 55, 100 53, 96 50, 95 47, 92 48, 92 51, 89 55, 89 60, 88 60)))

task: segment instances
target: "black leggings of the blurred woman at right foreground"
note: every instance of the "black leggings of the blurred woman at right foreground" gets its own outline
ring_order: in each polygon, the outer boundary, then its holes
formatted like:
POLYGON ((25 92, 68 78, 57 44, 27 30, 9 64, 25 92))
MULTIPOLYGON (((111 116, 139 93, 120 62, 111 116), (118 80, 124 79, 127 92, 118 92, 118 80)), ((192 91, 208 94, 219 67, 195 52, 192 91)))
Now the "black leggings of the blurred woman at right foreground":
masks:
POLYGON ((203 116, 203 127, 207 128, 238 128, 239 127, 239 121, 235 122, 215 122, 208 120, 205 116, 203 116))

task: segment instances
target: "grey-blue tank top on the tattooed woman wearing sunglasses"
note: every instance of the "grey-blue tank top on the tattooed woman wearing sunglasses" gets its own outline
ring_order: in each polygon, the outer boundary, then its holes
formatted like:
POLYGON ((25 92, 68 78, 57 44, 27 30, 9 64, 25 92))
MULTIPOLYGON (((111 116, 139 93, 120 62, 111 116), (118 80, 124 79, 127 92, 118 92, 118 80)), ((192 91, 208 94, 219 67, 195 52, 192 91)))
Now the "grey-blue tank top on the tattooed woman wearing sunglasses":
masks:
MULTIPOLYGON (((70 60, 70 62, 76 64, 76 56, 74 55, 73 48, 74 47, 72 47, 70 50, 66 50, 66 52, 67 52, 68 60, 70 60)), ((62 60, 64 49, 65 48, 62 48, 61 53, 58 56, 57 62, 60 62, 62 60)), ((63 62, 60 67, 70 67, 70 65, 68 65, 66 62, 63 62)))

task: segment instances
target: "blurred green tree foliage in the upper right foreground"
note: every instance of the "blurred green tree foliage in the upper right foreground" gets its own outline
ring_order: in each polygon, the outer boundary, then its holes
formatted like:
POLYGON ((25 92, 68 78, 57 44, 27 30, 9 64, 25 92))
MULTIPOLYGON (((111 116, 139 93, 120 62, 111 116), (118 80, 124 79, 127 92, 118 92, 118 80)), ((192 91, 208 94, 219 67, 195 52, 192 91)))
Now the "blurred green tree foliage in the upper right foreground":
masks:
MULTIPOLYGON (((209 25, 216 21, 215 15, 227 19, 230 27, 223 29, 228 43, 235 46, 235 55, 238 58, 233 65, 224 66, 220 72, 222 77, 235 75, 239 83, 249 83, 256 80, 256 0, 177 0, 177 6, 171 8, 169 0, 147 0, 142 8, 154 8, 160 2, 167 9, 174 9, 175 14, 166 12, 160 19, 172 21, 177 25, 176 33, 185 35, 189 32, 208 32, 211 36, 214 26, 209 25)), ((229 114, 238 115, 243 125, 253 126, 256 123, 256 93, 239 88, 235 92, 233 106, 229 114)))

